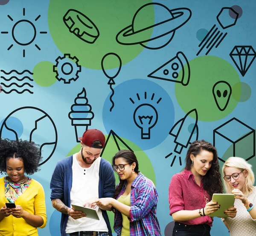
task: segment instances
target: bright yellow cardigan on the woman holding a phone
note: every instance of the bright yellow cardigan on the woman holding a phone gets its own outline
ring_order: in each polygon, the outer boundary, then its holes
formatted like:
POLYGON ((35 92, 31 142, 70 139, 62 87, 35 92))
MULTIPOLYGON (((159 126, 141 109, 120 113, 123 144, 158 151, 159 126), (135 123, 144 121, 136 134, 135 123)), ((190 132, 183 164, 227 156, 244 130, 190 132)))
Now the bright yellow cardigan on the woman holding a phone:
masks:
MULTIPOLYGON (((4 177, 0 178, 0 208, 2 208, 8 200, 4 193, 4 177)), ((40 228, 44 228, 47 222, 45 197, 43 186, 32 179, 31 184, 26 191, 21 194, 16 205, 20 205, 23 210, 41 216, 44 224, 40 228)), ((27 223, 23 218, 16 218, 12 215, 4 217, 0 221, 0 236, 38 236, 37 227, 27 223)))

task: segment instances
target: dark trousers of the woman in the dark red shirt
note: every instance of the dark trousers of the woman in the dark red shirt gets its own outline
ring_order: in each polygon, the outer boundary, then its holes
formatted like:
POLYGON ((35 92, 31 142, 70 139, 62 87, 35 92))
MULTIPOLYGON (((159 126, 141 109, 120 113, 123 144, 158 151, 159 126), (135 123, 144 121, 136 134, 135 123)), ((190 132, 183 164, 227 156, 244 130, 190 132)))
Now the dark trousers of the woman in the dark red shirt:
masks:
POLYGON ((211 236, 209 225, 185 225, 175 222, 172 236, 211 236))

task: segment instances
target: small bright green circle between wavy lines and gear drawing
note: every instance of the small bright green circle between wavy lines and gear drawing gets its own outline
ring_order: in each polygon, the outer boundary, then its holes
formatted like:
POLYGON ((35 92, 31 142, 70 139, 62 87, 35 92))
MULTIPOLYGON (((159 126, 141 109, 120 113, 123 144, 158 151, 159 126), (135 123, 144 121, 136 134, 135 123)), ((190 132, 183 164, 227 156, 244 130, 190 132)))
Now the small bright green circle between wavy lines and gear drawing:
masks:
POLYGON ((47 61, 35 65, 33 69, 33 79, 38 85, 49 87, 56 82, 56 74, 52 71, 53 65, 54 64, 47 61))

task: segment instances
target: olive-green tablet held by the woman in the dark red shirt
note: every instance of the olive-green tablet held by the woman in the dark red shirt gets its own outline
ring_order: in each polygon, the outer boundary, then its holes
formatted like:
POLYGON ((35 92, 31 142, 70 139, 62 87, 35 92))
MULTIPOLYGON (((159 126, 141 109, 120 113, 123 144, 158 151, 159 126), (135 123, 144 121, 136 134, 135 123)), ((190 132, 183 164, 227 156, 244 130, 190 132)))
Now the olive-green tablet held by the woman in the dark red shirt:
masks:
POLYGON ((214 193, 212 196, 212 202, 218 202, 221 205, 220 209, 216 210, 214 213, 210 214, 209 216, 217 216, 217 217, 228 217, 224 214, 224 210, 228 208, 232 208, 235 202, 234 194, 221 194, 221 193, 214 193))

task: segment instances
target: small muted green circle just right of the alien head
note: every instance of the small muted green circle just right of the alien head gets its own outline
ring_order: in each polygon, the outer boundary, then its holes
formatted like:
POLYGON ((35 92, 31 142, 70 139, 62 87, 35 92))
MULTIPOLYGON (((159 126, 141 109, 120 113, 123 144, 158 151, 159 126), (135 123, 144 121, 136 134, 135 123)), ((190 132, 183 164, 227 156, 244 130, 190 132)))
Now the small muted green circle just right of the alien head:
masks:
POLYGON ((237 102, 247 101, 250 98, 251 94, 252 94, 252 90, 250 88, 250 85, 248 85, 247 83, 244 83, 244 82, 236 83, 233 86, 232 91, 234 92, 234 93, 232 93, 232 97, 237 102), (239 94, 241 94, 240 97, 238 96, 239 94))

